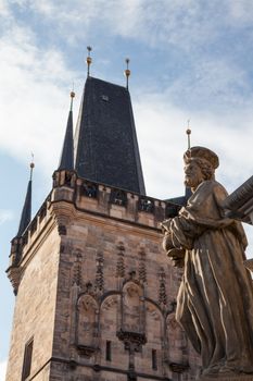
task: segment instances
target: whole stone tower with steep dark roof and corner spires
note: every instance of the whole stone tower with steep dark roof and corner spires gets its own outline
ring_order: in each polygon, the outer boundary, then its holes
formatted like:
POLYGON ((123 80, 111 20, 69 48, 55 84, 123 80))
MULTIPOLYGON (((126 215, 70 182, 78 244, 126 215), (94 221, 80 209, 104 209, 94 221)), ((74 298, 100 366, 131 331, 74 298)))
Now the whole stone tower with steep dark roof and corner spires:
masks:
MULTIPOLYGON (((72 94, 72 97, 74 94, 72 94)), ((146 196, 127 88, 88 76, 52 190, 30 221, 29 183, 7 270, 16 294, 7 381, 191 380, 198 357, 175 321, 181 273, 146 196)))

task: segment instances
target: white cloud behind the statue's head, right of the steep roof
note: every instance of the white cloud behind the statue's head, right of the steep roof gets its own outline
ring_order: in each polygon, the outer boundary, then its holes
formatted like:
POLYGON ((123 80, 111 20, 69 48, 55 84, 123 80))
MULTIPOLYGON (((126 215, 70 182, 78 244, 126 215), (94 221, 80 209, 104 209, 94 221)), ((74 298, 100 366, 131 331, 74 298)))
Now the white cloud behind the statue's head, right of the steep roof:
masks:
POLYGON ((253 111, 216 116, 206 111, 194 111, 189 115, 187 111, 169 105, 166 96, 157 95, 143 96, 134 108, 150 195, 166 198, 182 194, 182 153, 187 148, 189 118, 192 145, 207 146, 218 153, 220 168, 217 180, 229 192, 252 174, 249 155, 253 142, 253 111))

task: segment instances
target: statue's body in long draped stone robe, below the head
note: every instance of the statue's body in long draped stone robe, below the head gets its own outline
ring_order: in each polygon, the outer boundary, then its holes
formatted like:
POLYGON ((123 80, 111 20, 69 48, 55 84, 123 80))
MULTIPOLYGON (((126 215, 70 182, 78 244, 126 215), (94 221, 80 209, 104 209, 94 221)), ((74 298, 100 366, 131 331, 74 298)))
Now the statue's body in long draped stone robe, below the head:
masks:
POLYGON ((225 188, 204 181, 178 217, 163 223, 185 248, 176 319, 207 371, 253 372, 253 292, 241 223, 224 218, 225 188))

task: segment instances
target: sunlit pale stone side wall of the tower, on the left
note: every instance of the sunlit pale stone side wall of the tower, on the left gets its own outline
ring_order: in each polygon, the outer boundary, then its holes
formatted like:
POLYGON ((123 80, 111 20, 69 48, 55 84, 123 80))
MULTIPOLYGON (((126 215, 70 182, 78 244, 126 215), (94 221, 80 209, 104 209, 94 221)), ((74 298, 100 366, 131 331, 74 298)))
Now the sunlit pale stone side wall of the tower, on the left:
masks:
MULTIPOLYGON (((41 236, 42 238, 42 236, 41 236)), ((58 283, 60 237, 56 228, 45 233, 43 242, 24 256, 16 296, 7 381, 21 380, 26 343, 34 337, 30 374, 35 374, 52 354, 58 283)), ((49 367, 35 380, 49 380, 49 367)))

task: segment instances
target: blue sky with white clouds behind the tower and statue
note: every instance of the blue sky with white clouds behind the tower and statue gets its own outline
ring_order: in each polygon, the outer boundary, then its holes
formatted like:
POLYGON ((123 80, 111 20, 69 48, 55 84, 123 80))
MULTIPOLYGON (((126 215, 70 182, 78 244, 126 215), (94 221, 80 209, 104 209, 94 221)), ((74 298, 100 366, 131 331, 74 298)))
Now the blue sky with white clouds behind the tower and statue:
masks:
MULTIPOLYGON (((130 93, 147 192, 182 194, 182 152, 192 145, 220 158, 217 180, 233 190, 253 167, 253 2, 251 0, 0 0, 0 380, 14 297, 4 270, 35 155, 34 213, 51 187, 75 84, 76 120, 86 78, 130 93)), ((248 229, 253 254, 253 230, 248 229)))

